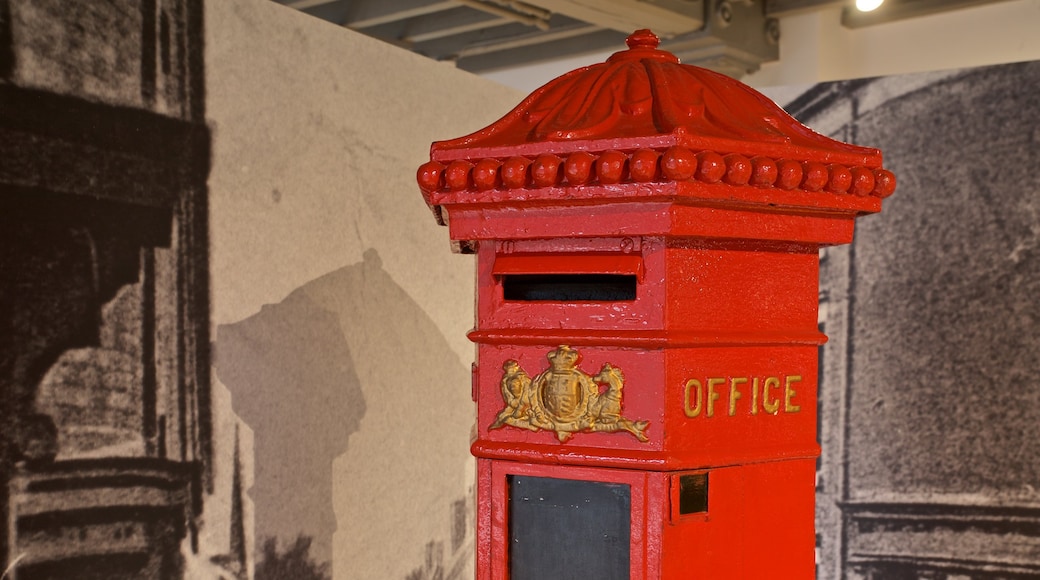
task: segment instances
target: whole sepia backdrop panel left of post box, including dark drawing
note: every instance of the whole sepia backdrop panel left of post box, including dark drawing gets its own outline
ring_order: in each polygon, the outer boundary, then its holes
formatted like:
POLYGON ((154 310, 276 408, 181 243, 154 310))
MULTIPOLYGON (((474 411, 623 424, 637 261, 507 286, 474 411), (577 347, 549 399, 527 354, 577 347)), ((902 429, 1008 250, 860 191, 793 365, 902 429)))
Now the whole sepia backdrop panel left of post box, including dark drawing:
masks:
POLYGON ((472 577, 472 263, 522 95, 269 0, 0 0, 0 577, 472 577))

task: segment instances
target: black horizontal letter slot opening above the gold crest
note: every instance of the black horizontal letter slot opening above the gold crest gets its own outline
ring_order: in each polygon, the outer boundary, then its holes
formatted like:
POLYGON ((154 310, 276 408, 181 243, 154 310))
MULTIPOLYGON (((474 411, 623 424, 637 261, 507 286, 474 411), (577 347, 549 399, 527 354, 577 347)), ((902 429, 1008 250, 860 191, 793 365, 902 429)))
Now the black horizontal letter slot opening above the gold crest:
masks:
POLYGON ((502 294, 506 300, 634 300, 636 282, 631 274, 509 274, 502 294))

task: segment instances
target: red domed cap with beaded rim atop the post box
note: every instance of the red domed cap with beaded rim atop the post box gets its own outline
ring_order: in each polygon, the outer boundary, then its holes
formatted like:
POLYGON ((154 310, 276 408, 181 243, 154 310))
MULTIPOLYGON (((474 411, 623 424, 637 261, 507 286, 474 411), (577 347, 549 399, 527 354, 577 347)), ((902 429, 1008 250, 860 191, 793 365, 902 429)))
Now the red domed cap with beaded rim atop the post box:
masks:
POLYGON ((491 126, 435 142, 418 170, 452 205, 685 200, 775 211, 880 211, 881 152, 815 133, 753 88, 679 63, 639 30, 628 50, 537 89, 491 126))

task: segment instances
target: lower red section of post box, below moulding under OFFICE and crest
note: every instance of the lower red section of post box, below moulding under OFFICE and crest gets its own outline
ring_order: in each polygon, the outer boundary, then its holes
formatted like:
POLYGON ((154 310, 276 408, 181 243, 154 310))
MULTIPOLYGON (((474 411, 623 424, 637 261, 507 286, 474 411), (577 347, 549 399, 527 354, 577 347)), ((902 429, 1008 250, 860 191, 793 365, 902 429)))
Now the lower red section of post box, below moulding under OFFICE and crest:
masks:
POLYGON ((477 471, 477 580, 814 574, 812 459, 655 472, 479 458, 477 471))

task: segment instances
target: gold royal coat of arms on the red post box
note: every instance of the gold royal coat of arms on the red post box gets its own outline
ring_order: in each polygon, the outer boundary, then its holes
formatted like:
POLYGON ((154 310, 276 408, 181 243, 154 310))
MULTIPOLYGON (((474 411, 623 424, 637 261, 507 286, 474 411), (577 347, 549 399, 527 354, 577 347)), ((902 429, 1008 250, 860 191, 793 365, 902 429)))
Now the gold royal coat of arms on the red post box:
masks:
POLYGON ((531 431, 555 431, 561 443, 578 431, 628 431, 644 443, 650 441, 646 436, 649 421, 621 416, 625 386, 621 369, 607 363, 598 374, 590 375, 577 368, 581 357, 567 345, 550 350, 547 358, 549 368, 535 378, 517 361, 505 361, 501 381, 505 407, 489 429, 511 425, 531 431), (605 390, 600 391, 601 386, 605 390))

